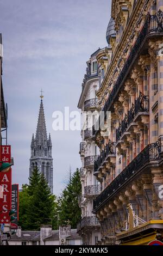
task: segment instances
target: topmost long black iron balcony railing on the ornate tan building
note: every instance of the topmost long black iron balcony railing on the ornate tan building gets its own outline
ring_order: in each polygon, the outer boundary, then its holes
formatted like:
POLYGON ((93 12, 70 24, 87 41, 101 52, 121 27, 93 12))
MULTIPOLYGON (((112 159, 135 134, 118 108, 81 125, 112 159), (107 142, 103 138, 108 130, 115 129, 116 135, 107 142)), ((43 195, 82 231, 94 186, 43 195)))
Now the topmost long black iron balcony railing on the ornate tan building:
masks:
MULTIPOLYGON (((120 72, 120 75, 118 76, 117 81, 108 97, 108 100, 106 100, 105 105, 102 109, 102 111, 105 112, 105 117, 106 117, 106 112, 110 110, 111 106, 113 106, 113 102, 115 101, 115 98, 120 88, 122 87, 124 81, 126 80, 127 75, 129 74, 130 69, 133 66, 133 63, 137 58, 137 54, 139 54, 148 36, 156 36, 157 34, 160 35, 160 33, 163 33, 162 24, 163 24, 163 12, 161 10, 159 10, 155 15, 151 15, 148 13, 145 25, 141 29, 139 36, 137 37, 135 44, 129 53, 127 61, 124 64, 120 72)), ((99 124, 99 120, 97 120, 97 124, 99 124)), ((93 129, 93 136, 96 135, 99 130, 99 129, 95 129, 96 127, 99 127, 99 126, 95 125, 93 129)))

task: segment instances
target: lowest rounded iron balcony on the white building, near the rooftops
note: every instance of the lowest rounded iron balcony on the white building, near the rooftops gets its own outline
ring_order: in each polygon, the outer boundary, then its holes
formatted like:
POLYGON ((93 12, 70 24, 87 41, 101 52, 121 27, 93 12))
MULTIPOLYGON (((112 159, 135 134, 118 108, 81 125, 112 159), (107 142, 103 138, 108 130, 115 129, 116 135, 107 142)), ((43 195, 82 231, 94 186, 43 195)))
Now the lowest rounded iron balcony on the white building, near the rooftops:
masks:
POLYGON ((96 216, 84 217, 77 225, 77 232, 87 227, 90 227, 90 228, 100 227, 99 221, 96 218, 96 216))

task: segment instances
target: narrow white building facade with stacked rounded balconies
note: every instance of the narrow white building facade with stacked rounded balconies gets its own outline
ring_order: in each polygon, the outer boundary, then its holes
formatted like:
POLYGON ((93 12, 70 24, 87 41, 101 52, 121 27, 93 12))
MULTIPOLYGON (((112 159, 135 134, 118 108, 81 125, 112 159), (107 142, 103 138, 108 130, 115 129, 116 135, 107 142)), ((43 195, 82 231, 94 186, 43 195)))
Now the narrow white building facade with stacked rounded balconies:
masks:
MULTIPOLYGON (((82 94, 80 95, 78 108, 82 110, 82 142, 80 143, 80 157, 82 167, 80 168, 80 180, 82 184, 82 196, 79 197, 79 205, 82 209, 82 220, 78 223, 77 231, 82 236, 84 245, 95 245, 101 239, 100 224, 94 214, 93 199, 101 191, 101 186, 93 175, 94 161, 98 155, 98 148, 92 138, 92 125, 89 112, 98 111, 96 91, 99 89, 99 69, 96 54, 98 49, 86 62, 86 75, 82 83, 82 94)), ((93 122, 95 120, 92 120, 93 122)))

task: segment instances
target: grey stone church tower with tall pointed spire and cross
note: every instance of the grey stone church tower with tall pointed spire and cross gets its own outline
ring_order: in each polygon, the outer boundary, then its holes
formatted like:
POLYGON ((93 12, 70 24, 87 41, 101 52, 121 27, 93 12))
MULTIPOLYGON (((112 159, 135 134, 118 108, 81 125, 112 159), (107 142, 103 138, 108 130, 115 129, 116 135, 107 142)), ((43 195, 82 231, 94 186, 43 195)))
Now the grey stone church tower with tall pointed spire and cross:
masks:
POLYGON ((53 193, 53 158, 52 158, 52 141, 51 135, 47 138, 45 115, 43 110, 43 102, 41 97, 39 119, 37 121, 36 136, 32 136, 31 142, 31 157, 30 157, 30 167, 29 176, 32 175, 34 167, 38 167, 40 172, 42 172, 51 188, 51 193, 53 193))

